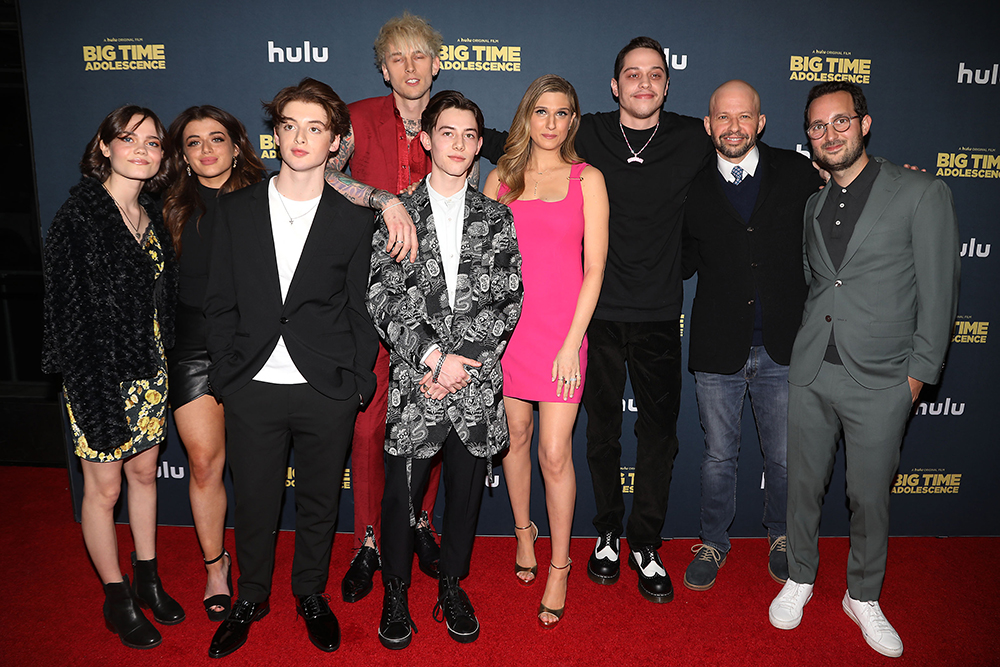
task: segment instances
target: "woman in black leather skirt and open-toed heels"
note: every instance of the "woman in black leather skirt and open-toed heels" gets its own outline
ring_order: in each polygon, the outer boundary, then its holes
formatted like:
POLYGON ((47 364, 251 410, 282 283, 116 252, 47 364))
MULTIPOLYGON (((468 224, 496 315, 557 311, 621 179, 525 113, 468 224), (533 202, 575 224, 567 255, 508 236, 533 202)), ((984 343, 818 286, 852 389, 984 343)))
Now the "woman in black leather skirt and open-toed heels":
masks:
POLYGON ((191 107, 170 125, 174 180, 163 216, 180 258, 176 342, 167 353, 170 406, 188 453, 191 514, 208 572, 205 611, 213 621, 229 614, 232 559, 223 544, 226 523, 226 429, 222 404, 208 386, 202 302, 218 197, 256 183, 264 165, 246 129, 213 106, 191 107))

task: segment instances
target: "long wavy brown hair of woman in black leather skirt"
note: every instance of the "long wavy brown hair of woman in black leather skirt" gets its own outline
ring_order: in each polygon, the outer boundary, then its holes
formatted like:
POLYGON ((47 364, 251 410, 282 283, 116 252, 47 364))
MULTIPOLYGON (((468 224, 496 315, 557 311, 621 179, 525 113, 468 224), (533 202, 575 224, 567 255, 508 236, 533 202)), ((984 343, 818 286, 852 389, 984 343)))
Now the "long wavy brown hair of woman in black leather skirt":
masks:
POLYGON ((167 225, 167 230, 174 241, 174 250, 177 255, 181 254, 181 234, 184 232, 184 225, 191 218, 191 214, 198 211, 198 221, 205 215, 205 202, 198 194, 198 177, 187 175, 187 163, 184 162, 184 130, 188 123, 195 120, 211 119, 217 121, 226 129, 233 145, 239 149, 236 156, 236 167, 230 172, 229 178, 222 185, 219 194, 232 192, 253 185, 260 181, 264 173, 264 163, 257 157, 253 144, 247 136, 246 128, 243 127, 236 116, 228 111, 223 111, 218 107, 206 104, 200 107, 188 107, 174 119, 170 124, 168 136, 170 137, 169 174, 171 177, 170 188, 163 198, 163 219, 167 225))

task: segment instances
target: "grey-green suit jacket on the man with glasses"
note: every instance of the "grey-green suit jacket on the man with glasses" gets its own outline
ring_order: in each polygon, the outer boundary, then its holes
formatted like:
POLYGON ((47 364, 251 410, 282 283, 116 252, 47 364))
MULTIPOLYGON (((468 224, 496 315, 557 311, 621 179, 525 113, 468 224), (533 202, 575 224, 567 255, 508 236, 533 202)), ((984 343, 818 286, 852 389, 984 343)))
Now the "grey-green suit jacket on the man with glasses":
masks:
POLYGON ((809 295, 792 348, 791 384, 816 378, 831 328, 844 367, 863 387, 886 389, 907 376, 934 384, 941 374, 958 303, 951 190, 929 174, 873 159, 882 166, 839 269, 817 222, 829 187, 806 204, 809 295))

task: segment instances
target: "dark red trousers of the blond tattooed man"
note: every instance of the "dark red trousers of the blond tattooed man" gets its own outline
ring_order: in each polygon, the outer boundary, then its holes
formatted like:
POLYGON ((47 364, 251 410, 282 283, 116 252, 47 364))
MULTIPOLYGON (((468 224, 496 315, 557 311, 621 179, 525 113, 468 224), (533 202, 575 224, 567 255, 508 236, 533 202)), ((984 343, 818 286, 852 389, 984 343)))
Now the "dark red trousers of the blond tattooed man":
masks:
MULTIPOLYGON (((379 345, 375 361, 375 378, 378 386, 375 397, 364 412, 358 413, 354 422, 354 440, 351 444, 351 488, 354 491, 354 536, 364 540, 365 529, 371 526, 375 539, 380 539, 382 528, 382 493, 385 490, 385 415, 389 406, 389 352, 379 345)), ((441 459, 431 468, 420 509, 434 518, 441 481, 441 459)))

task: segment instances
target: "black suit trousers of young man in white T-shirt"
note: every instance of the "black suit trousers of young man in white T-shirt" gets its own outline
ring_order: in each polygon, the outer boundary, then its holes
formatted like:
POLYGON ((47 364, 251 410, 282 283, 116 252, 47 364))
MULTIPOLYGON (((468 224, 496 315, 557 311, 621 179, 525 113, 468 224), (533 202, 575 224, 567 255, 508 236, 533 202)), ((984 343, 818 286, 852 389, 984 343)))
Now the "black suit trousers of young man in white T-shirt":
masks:
POLYGON ((226 396, 226 455, 236 495, 239 597, 271 593, 274 548, 288 449, 295 446, 295 557, 292 593, 326 588, 340 481, 358 399, 338 401, 308 384, 250 382, 226 396))

